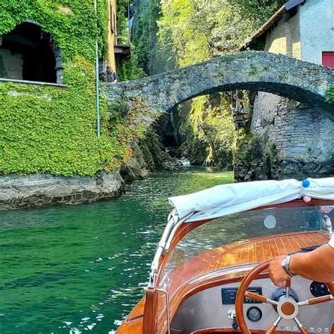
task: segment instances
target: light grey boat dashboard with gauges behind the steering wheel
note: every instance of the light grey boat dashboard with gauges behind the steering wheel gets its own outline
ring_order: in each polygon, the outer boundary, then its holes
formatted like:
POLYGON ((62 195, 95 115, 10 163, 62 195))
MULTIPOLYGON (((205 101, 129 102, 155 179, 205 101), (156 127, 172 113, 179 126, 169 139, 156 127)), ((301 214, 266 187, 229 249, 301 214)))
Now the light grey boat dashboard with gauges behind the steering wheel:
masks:
MULTIPOLYGON (((240 283, 231 283, 210 287, 197 292, 181 305, 171 324, 171 329, 178 333, 192 333, 206 328, 233 328, 233 320, 229 317, 235 311, 235 293, 240 283)), ((299 302, 314 298, 314 295, 326 295, 328 290, 322 283, 314 283, 299 276, 292 278, 292 290, 299 302)), ((271 298, 278 287, 268 278, 254 280, 250 290, 271 298), (261 289, 261 290, 260 290, 261 289)), ((244 314, 250 330, 266 330, 278 318, 278 314, 271 304, 262 304, 246 300, 244 314), (259 319, 254 321, 254 319, 259 319), (253 321, 252 321, 253 319, 253 321)), ((330 333, 334 320, 334 302, 307 305, 299 308, 297 316, 309 333, 330 333)), ((293 320, 281 320, 277 331, 299 333, 293 320)))

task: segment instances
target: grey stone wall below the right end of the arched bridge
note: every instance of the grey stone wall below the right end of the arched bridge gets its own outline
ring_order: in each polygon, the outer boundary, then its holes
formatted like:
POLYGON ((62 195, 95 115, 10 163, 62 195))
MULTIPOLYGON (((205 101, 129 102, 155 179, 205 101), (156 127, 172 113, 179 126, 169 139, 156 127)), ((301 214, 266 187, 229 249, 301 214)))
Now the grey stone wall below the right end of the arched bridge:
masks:
POLYGON ((275 144, 280 161, 272 171, 276 178, 334 175, 334 113, 259 92, 251 130, 262 152, 275 144))

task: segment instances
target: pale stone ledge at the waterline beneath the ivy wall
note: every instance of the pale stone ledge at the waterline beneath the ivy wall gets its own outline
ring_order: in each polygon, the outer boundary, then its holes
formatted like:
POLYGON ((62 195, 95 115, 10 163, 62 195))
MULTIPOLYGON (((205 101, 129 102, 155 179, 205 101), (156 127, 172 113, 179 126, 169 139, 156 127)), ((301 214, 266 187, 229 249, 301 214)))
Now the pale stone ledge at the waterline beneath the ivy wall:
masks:
POLYGON ((79 204, 118 197, 124 181, 118 172, 101 172, 94 177, 32 174, 0 178, 0 210, 49 204, 79 204))

